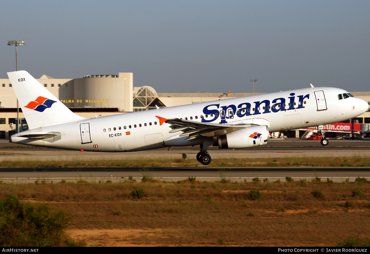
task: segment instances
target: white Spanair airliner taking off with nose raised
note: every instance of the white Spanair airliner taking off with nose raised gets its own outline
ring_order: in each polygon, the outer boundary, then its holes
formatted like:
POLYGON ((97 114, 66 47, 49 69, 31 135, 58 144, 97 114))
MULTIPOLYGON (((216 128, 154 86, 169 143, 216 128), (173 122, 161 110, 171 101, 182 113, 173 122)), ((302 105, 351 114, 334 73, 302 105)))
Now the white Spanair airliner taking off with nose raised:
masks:
MULTIPOLYGON (((266 93, 191 105, 83 118, 71 112, 28 72, 8 72, 28 123, 10 142, 92 152, 132 152, 200 145, 196 158, 211 162, 209 146, 250 148, 268 144, 269 133, 342 122, 369 109, 338 88, 266 93)), ((324 138, 322 145, 327 145, 324 138)))

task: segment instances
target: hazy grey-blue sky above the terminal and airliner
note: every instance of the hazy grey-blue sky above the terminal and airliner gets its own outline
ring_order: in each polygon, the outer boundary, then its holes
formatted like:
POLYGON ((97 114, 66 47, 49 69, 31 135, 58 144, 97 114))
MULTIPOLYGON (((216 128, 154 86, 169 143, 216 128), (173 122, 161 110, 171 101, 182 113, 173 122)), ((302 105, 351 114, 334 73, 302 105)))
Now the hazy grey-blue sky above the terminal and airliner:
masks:
POLYGON ((157 92, 370 91, 370 1, 2 1, 0 78, 133 72, 157 92))

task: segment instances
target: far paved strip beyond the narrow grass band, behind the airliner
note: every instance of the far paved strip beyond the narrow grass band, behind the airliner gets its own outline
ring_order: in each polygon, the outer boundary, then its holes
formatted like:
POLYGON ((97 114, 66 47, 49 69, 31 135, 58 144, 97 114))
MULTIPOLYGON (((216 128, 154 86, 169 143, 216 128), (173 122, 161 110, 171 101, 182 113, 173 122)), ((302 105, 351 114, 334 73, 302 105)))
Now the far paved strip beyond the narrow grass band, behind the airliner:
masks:
MULTIPOLYGON (((2 139, 0 161, 3 160, 66 160, 66 159, 125 159, 125 158, 182 158, 195 159, 199 146, 160 148, 140 152, 80 152, 51 148, 17 146, 2 139)), ((279 158, 279 157, 340 157, 370 156, 370 140, 330 139, 322 146, 318 140, 270 139, 266 146, 247 149, 208 149, 212 158, 279 158)))

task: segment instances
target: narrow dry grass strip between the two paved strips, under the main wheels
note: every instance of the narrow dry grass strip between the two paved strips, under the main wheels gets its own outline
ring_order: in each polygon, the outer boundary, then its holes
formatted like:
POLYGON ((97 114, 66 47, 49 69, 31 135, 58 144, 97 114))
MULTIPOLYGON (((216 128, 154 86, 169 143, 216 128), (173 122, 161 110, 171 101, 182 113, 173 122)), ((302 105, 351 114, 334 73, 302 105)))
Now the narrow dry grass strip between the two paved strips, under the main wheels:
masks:
MULTIPOLYGON (((129 168, 150 168, 150 167, 178 167, 199 166, 195 159, 124 159, 124 160, 67 160, 67 161, 38 161, 38 160, 4 160, 1 167, 18 168, 18 167, 129 167, 129 168)), ((201 165, 203 166, 203 165, 201 165)), ((279 159, 253 159, 253 158, 234 158, 230 159, 212 159, 212 163, 207 165, 211 167, 230 168, 238 166, 370 166, 368 157, 344 157, 344 158, 279 158, 279 159)), ((319 178, 318 178, 319 179, 319 178)), ((359 181, 367 179, 359 178, 359 181)))

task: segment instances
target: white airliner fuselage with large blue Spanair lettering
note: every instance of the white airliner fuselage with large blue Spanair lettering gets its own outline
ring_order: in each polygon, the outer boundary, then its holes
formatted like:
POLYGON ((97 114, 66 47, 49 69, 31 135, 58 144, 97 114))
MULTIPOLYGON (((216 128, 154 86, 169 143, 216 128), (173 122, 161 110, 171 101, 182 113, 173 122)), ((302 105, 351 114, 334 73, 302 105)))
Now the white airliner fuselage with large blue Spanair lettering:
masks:
MULTIPOLYGON (((269 132, 286 131, 341 122, 366 112, 368 105, 337 88, 306 88, 191 105, 122 113, 30 129, 11 136, 19 144, 100 152, 129 152, 203 144, 206 138, 186 141, 180 133, 169 133, 166 119, 181 118, 203 123, 264 124, 269 132), (268 123, 268 124, 266 124, 268 123), (38 133, 60 135, 33 139, 19 135, 38 133)), ((63 116, 61 116, 63 117, 63 116)))

